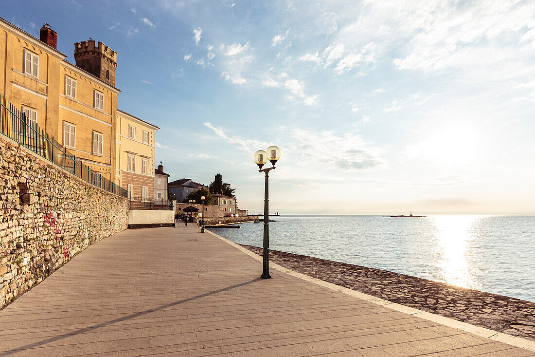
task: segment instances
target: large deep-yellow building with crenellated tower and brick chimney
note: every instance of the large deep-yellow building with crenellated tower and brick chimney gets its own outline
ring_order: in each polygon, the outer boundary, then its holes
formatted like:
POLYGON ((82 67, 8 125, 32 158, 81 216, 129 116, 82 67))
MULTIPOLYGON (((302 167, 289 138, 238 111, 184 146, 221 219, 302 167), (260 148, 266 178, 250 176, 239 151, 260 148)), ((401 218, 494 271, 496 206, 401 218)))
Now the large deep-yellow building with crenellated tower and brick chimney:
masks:
POLYGON ((0 18, 0 94, 29 124, 111 180, 120 92, 114 86, 117 53, 93 40, 75 43, 74 65, 56 49, 56 36, 45 25, 37 39, 0 18))

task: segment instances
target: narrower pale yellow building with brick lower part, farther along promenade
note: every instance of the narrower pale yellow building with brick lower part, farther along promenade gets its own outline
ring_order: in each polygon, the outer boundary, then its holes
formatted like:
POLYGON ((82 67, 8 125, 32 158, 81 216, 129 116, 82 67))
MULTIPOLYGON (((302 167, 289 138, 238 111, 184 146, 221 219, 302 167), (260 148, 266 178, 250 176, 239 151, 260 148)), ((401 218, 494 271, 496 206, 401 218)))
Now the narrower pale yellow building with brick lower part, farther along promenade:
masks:
POLYGON ((131 199, 154 197, 156 125, 117 110, 116 183, 131 199))

